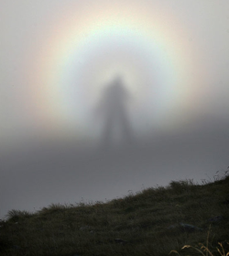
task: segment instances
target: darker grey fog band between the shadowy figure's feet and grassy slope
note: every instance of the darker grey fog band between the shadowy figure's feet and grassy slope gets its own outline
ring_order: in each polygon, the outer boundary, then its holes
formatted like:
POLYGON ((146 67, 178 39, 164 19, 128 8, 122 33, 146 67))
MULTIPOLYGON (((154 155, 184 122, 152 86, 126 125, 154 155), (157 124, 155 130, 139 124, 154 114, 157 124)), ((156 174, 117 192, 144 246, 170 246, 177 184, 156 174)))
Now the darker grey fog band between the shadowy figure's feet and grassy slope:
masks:
POLYGON ((228 128, 202 127, 130 144, 24 145, 1 155, 1 217, 50 204, 107 201, 172 180, 213 181, 228 165, 228 128))

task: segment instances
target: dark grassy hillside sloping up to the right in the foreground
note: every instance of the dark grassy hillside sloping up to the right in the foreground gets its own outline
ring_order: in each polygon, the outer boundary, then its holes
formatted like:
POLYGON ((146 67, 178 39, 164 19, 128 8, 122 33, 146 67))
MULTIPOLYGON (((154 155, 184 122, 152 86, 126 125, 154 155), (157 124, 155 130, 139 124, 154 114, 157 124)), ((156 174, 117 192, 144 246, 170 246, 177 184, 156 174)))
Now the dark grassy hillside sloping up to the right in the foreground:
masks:
MULTIPOLYGON (((101 189, 101 188, 100 188, 101 189)), ((172 181, 107 203, 11 210, 0 223, 0 255, 213 255, 229 251, 229 176, 172 181), (208 239, 207 239, 208 237, 208 239), (184 245, 197 246, 198 250, 184 245), (202 251, 204 248, 202 248, 202 251), (207 252, 202 252, 203 255, 207 252)))

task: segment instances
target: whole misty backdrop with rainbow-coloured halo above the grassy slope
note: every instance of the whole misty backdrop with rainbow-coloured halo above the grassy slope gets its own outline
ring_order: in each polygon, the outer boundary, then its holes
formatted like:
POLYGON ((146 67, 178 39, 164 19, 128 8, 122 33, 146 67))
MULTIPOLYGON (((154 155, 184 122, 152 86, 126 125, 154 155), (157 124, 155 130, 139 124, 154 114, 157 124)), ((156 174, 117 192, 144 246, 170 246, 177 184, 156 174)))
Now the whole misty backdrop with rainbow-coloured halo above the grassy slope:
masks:
POLYGON ((112 2, 0 0, 0 217, 227 169, 229 2, 112 2))

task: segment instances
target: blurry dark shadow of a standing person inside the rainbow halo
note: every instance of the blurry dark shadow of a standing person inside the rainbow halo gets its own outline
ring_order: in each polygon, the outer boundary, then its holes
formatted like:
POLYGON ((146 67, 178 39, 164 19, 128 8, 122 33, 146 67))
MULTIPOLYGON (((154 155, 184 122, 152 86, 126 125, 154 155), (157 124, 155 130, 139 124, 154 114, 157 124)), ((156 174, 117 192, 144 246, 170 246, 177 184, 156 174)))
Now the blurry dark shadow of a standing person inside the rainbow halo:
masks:
POLYGON ((115 132, 122 144, 128 145, 133 139, 126 109, 128 98, 129 95, 120 76, 117 76, 104 89, 99 106, 99 112, 104 119, 103 145, 114 144, 115 132))

